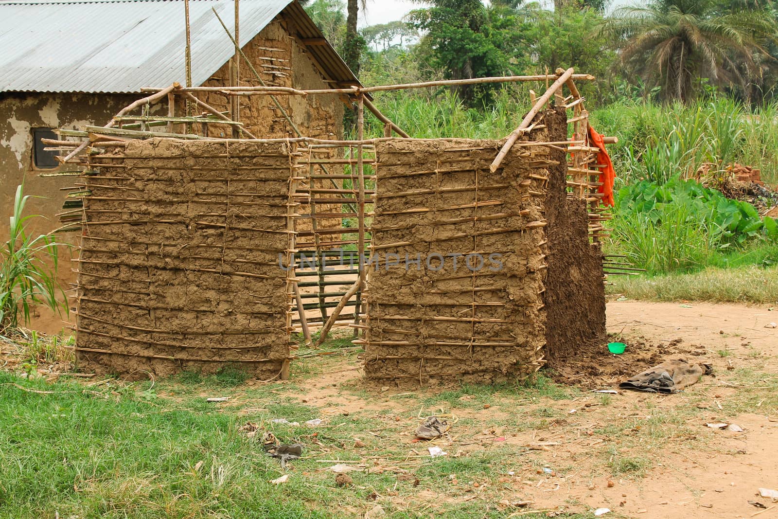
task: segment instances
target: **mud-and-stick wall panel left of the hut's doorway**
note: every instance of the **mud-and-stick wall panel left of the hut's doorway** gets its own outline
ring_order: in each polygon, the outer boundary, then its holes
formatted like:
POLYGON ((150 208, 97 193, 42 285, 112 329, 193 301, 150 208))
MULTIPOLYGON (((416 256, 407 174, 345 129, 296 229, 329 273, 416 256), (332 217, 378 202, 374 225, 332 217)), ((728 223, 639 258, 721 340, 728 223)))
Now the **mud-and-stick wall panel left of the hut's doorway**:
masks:
MULTIPOLYGON (((286 145, 132 141, 85 198, 76 354, 164 376, 289 357, 286 145), (123 153, 123 155, 122 155, 123 153)), ((104 162, 104 160, 103 160, 104 162)), ((104 168, 108 170, 109 168, 104 168)))

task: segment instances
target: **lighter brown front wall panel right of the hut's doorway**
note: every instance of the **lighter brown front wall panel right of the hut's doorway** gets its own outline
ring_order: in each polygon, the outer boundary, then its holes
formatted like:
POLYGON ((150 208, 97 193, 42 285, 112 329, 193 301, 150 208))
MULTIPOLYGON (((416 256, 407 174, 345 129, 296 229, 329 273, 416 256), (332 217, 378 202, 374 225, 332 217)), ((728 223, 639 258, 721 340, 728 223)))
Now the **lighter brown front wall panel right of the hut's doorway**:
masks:
MULTIPOLYGON (((536 131, 533 139, 545 139, 536 131)), ((543 363, 545 195, 548 149, 514 147, 489 173, 500 142, 376 145, 379 195, 373 219, 365 374, 437 384, 524 377, 543 363), (531 177, 534 175, 534 177, 531 177), (502 268, 443 268, 430 253, 500 254, 502 268), (386 266, 397 254, 401 265, 386 266), (422 255, 421 268, 405 257, 422 255), (432 268, 430 268, 432 267, 432 268)), ((472 267, 477 268, 478 262, 472 267)))

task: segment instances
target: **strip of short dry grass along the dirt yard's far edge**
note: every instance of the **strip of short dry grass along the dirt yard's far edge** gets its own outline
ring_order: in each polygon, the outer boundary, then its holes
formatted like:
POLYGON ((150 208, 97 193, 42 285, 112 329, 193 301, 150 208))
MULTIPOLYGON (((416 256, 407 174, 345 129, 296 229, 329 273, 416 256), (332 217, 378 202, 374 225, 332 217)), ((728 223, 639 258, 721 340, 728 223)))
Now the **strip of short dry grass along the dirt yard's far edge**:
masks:
POLYGON ((778 267, 704 268, 699 272, 612 276, 607 292, 628 299, 778 304, 778 267))

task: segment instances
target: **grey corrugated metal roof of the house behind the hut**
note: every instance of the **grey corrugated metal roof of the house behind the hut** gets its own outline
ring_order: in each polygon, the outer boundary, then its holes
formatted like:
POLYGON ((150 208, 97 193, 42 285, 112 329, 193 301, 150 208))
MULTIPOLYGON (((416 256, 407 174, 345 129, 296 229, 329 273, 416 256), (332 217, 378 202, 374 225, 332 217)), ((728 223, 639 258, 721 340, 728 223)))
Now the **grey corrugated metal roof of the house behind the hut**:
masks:
MULTIPOLYGON (((212 8, 234 29, 233 0, 189 2, 195 85, 234 54, 212 8)), ((293 0, 240 0, 240 39, 251 40, 287 8, 300 37, 322 37, 293 0)), ((185 41, 180 0, 0 2, 0 91, 131 93, 183 85, 185 41)), ((329 44, 307 48, 328 79, 357 84, 329 44)))

